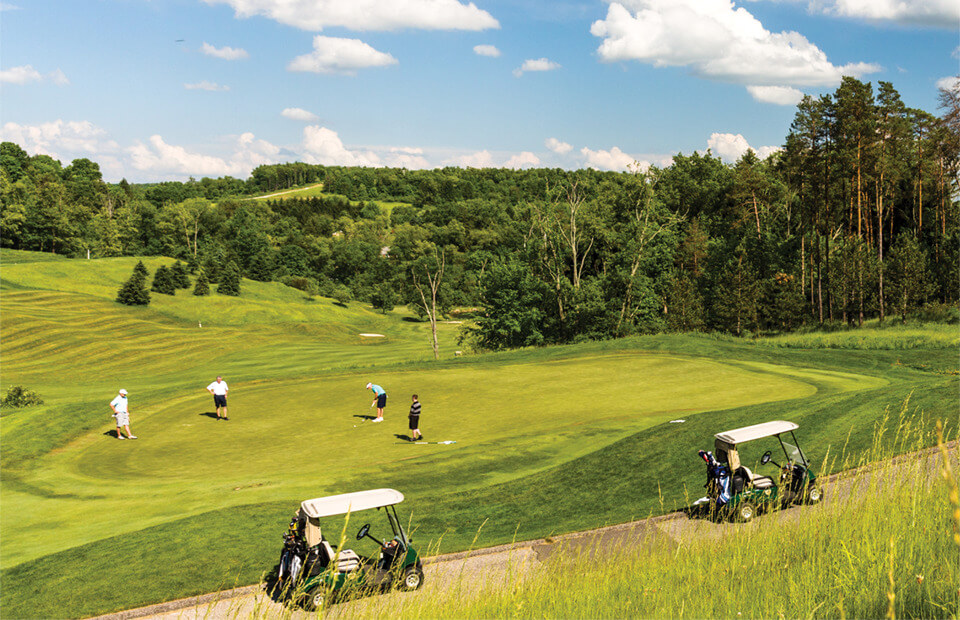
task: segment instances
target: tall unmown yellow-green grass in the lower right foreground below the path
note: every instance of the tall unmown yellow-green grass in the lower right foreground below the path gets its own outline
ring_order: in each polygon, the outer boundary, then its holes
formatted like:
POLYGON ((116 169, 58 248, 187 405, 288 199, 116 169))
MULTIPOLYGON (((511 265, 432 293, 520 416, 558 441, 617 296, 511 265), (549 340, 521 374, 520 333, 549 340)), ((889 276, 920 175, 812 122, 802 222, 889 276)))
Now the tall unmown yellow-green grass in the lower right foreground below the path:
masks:
MULTIPOLYGON (((560 550, 526 578, 507 571, 439 596, 381 597, 336 610, 369 618, 957 618, 956 444, 928 446, 906 415, 877 424, 857 462, 832 463, 829 500, 747 525, 691 521, 672 544, 656 528, 606 552, 560 550), (953 463, 951 463, 953 461, 953 463), (869 465, 868 465, 869 464, 869 465)), ((559 544, 563 544, 562 542, 559 544)), ((429 573, 428 573, 429 579, 429 573)))

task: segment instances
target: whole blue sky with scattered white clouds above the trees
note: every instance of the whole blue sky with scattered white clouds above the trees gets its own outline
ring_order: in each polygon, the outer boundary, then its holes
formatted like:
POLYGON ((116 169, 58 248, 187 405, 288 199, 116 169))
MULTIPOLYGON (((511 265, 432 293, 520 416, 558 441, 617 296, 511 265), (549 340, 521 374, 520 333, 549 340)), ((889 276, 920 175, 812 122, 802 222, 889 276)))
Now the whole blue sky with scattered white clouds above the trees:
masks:
POLYGON ((938 113, 958 0, 3 0, 0 139, 104 179, 766 156, 844 75, 938 113))

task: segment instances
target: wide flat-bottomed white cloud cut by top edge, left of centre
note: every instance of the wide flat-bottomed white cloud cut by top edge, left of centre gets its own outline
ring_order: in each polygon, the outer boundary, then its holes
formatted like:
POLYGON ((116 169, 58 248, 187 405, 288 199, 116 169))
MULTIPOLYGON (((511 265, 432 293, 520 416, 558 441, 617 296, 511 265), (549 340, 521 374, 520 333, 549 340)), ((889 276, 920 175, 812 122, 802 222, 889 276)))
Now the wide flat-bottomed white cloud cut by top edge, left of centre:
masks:
POLYGON ((302 30, 486 30, 492 15, 457 0, 205 0, 227 4, 237 17, 262 15, 302 30))

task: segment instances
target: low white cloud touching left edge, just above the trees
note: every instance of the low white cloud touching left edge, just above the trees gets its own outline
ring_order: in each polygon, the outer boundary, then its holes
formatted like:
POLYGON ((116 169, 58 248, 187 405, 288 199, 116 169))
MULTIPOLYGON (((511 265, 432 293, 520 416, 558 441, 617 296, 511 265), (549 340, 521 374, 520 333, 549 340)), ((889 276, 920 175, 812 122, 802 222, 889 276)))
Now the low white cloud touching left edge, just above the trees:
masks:
POLYGON ((0 130, 4 141, 14 142, 32 154, 50 155, 55 159, 73 160, 105 153, 115 153, 119 146, 107 132, 90 121, 57 119, 39 125, 6 123, 0 130))

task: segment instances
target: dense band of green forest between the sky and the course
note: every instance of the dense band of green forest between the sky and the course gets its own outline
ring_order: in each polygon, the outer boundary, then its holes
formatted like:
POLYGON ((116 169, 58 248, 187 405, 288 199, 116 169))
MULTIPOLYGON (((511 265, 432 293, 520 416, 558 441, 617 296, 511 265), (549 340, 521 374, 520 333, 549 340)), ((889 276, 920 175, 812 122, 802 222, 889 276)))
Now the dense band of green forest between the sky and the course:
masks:
POLYGON ((935 116, 889 83, 844 78, 798 105, 766 160, 695 153, 632 173, 297 163, 108 185, 89 160, 64 168, 4 143, 2 242, 164 254, 208 275, 232 261, 434 323, 479 308, 470 337, 494 349, 858 325, 960 298, 958 91, 941 104, 935 116), (314 182, 328 195, 242 199, 314 182))

